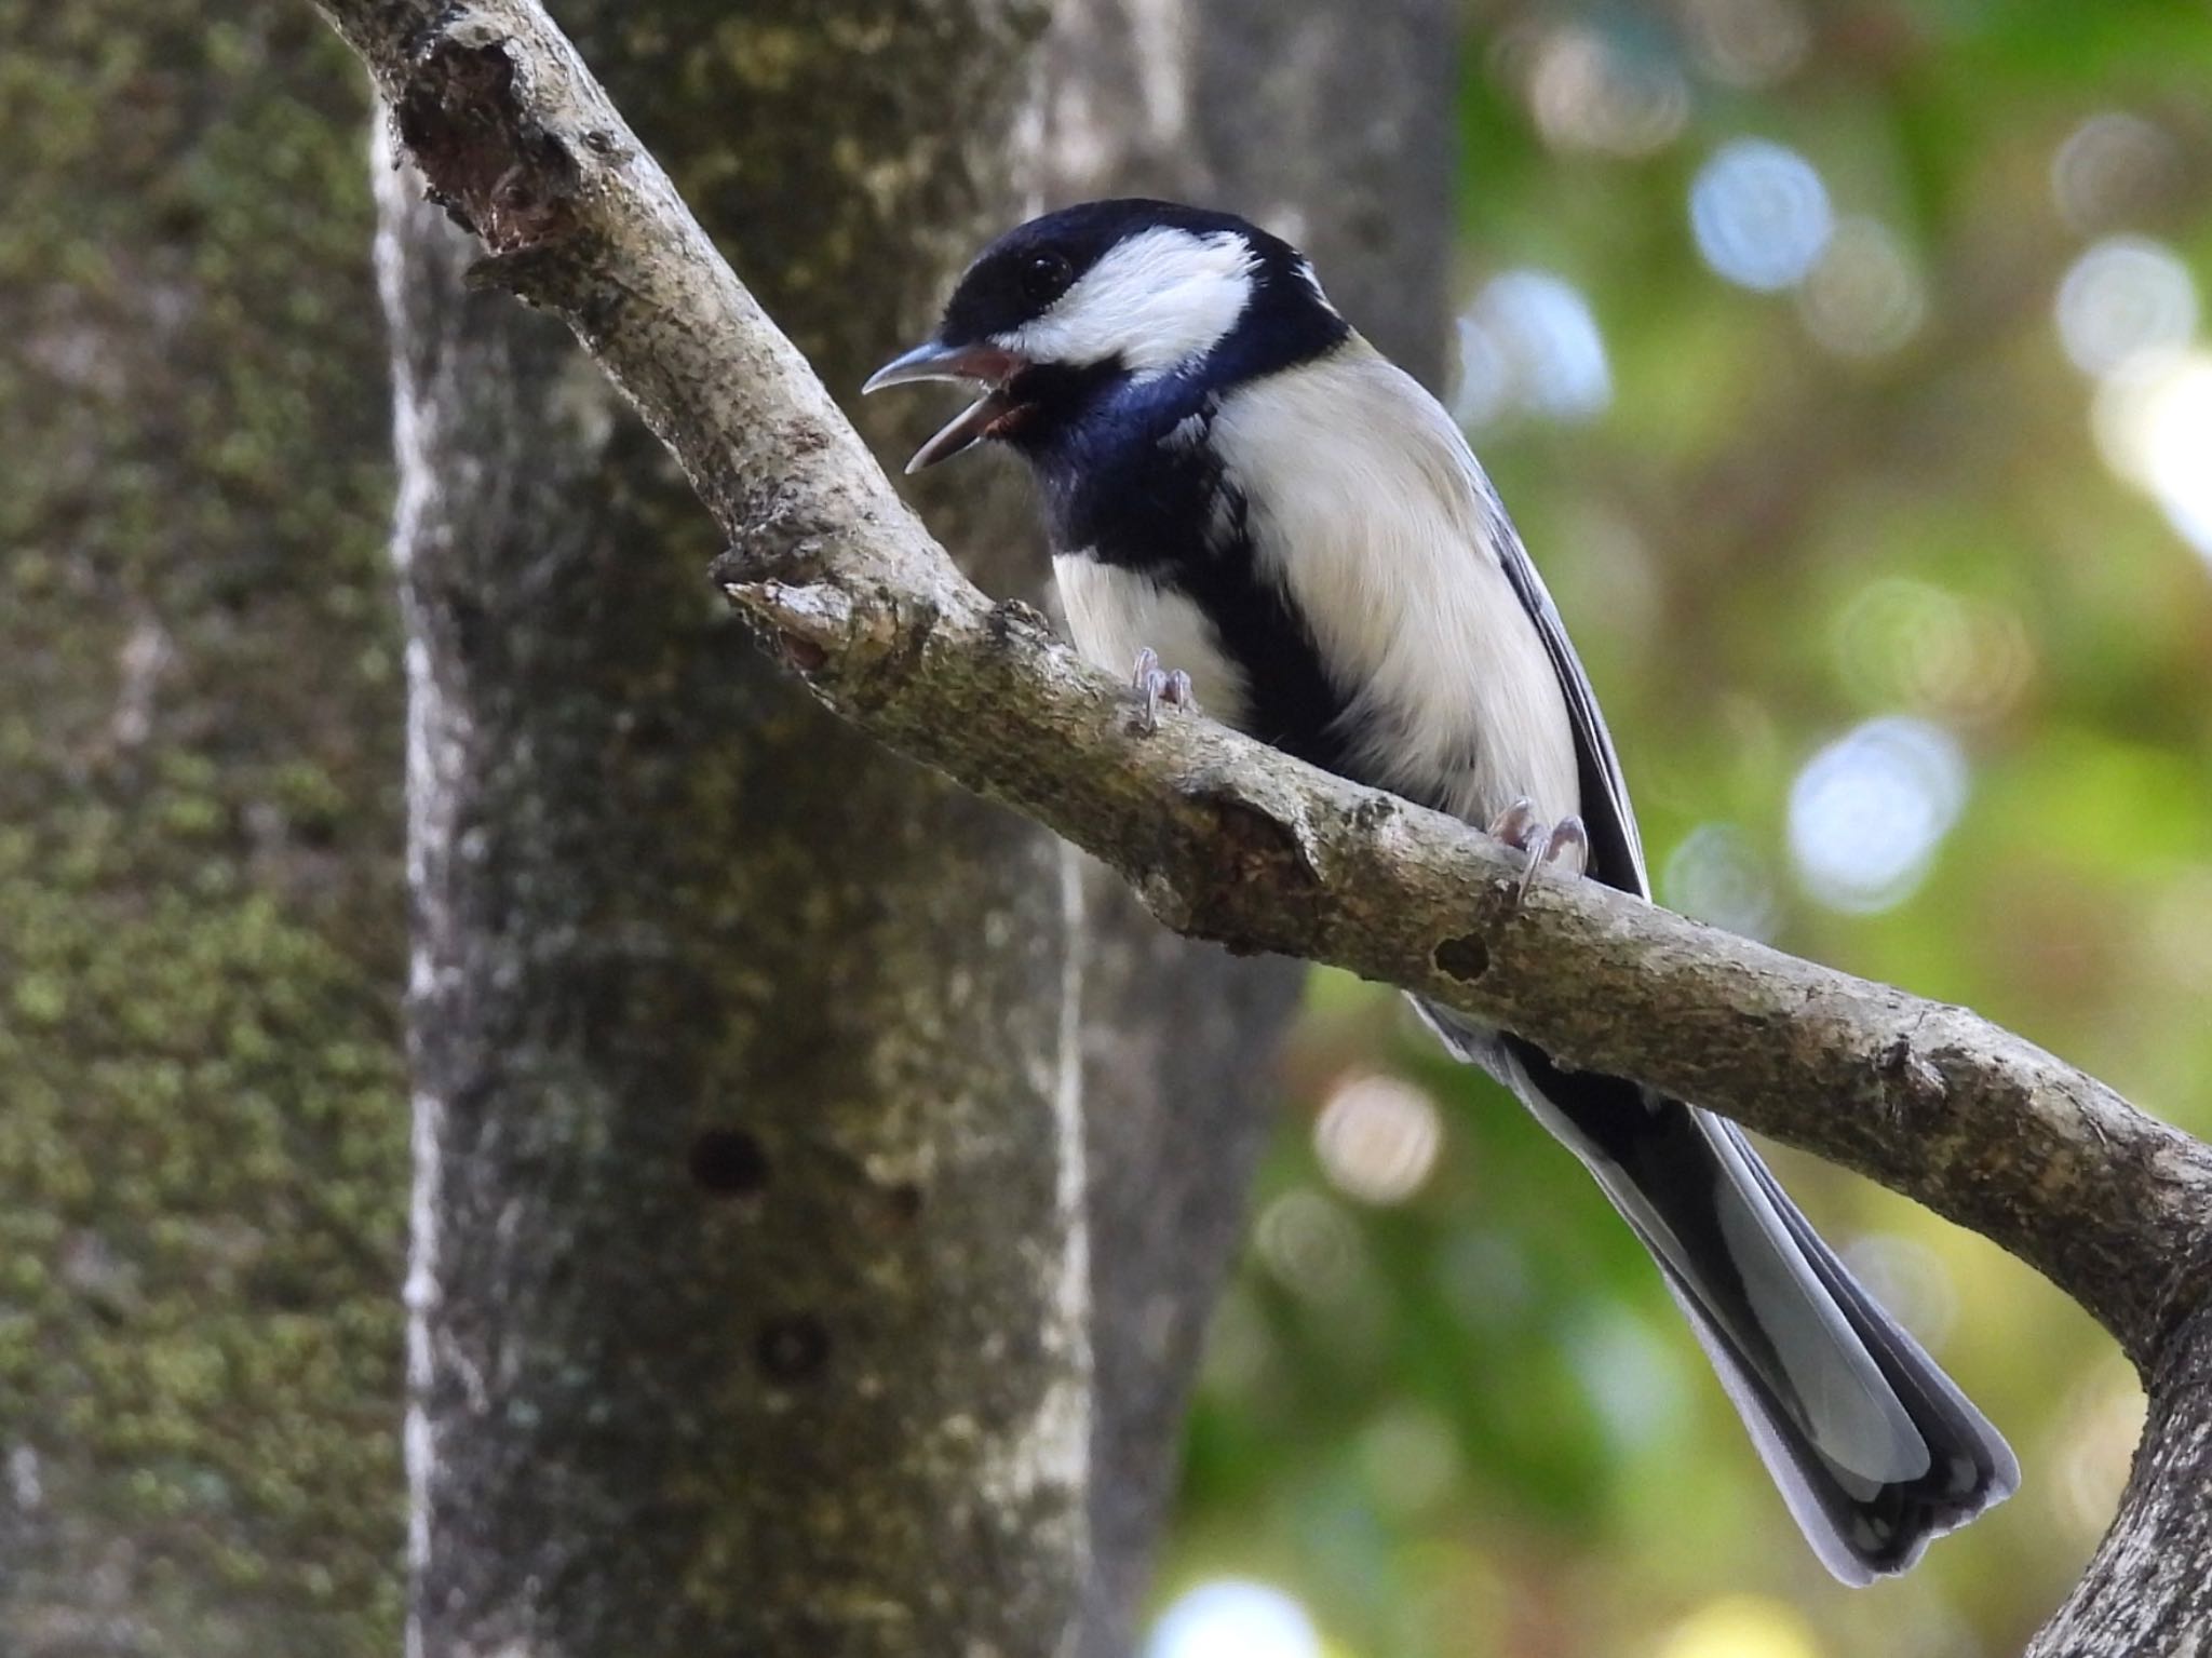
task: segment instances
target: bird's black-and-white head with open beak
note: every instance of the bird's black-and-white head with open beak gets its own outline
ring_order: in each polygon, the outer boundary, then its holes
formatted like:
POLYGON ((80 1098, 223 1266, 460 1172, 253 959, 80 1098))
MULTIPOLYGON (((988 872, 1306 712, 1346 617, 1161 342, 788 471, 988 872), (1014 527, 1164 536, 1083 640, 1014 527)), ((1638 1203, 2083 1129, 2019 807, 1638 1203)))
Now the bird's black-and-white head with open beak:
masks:
POLYGON ((1237 354, 1256 369, 1343 332, 1312 265, 1279 237, 1170 201, 1086 201, 984 248, 936 336, 876 369, 863 391, 982 387, 907 462, 918 473, 984 438, 1031 447, 1117 387, 1219 367, 1237 340, 1259 347, 1237 354))

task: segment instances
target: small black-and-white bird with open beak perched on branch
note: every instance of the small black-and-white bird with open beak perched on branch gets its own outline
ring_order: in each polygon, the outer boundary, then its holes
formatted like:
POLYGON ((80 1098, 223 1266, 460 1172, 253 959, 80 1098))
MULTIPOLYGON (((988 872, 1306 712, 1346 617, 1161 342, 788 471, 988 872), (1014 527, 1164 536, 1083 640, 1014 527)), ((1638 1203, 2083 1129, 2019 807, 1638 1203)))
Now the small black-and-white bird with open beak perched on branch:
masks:
MULTIPOLYGON (((1290 243, 1223 212, 1091 201, 991 243, 931 340, 863 387, 982 396, 1042 493, 1075 646, 1356 783, 1650 898, 1588 676, 1444 409, 1290 243), (1166 665, 1164 665, 1166 663, 1166 665)), ((1650 1249, 1790 1514, 1845 1583, 1905 1572, 2020 1463, 1851 1278, 1743 1132, 1458 1012, 1422 1017, 1597 1176, 1650 1249)))

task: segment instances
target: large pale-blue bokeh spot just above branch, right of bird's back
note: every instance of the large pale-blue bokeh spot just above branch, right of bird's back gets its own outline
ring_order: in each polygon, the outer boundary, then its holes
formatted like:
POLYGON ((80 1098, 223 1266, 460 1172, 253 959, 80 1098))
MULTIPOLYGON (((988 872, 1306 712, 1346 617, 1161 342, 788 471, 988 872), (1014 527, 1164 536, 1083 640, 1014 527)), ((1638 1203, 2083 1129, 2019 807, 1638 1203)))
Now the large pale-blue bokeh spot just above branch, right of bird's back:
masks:
POLYGON ((1966 805, 1966 756, 1922 718, 1867 721, 1805 763, 1790 789, 1790 853, 1805 891, 1871 913, 1913 893, 1966 805))

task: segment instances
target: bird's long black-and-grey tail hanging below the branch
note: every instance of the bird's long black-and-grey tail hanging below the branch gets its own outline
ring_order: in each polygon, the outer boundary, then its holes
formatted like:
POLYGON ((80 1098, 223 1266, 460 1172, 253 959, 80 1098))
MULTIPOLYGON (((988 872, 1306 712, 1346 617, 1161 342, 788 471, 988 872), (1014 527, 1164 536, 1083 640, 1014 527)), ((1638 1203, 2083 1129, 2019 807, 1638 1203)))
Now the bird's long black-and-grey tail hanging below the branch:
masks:
POLYGON ((1734 1123, 1422 1006, 1597 1176, 1659 1262, 1767 1472, 1845 1583, 2020 1486, 2002 1435, 1820 1242, 1734 1123))

